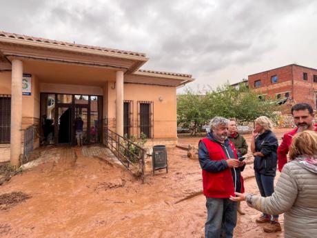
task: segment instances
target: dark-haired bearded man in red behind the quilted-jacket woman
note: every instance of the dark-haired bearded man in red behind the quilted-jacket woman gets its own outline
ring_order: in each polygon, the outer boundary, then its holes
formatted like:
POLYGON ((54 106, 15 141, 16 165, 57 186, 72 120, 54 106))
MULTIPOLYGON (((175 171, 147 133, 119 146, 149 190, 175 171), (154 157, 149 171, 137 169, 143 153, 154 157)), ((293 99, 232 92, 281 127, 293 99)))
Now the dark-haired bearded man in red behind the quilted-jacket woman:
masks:
POLYGON ((289 146, 291 146, 294 135, 303 130, 314 130, 317 132, 317 124, 313 124, 314 111, 308 103, 295 104, 292 106, 291 112, 297 127, 291 132, 285 133, 282 143, 278 146, 278 170, 280 172, 285 163, 287 163, 287 153, 289 152, 289 146))

